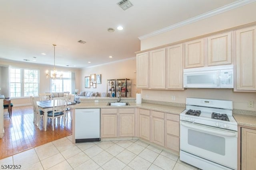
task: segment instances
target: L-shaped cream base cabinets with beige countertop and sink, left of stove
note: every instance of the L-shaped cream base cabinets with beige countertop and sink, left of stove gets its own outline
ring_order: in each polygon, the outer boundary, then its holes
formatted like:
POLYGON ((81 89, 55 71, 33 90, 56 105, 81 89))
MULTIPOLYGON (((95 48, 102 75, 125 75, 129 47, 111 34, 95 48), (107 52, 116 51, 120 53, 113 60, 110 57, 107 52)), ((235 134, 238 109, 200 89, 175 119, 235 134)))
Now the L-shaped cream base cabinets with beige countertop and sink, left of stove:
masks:
MULTIPOLYGON (((162 149, 179 154, 179 115, 185 109, 184 104, 146 101, 136 104, 135 98, 122 98, 128 106, 108 106, 117 98, 91 98, 81 100, 73 107, 73 120, 76 109, 100 108, 100 137, 102 140, 133 139, 152 143, 162 149)), ((73 143, 75 140, 73 123, 73 143)))

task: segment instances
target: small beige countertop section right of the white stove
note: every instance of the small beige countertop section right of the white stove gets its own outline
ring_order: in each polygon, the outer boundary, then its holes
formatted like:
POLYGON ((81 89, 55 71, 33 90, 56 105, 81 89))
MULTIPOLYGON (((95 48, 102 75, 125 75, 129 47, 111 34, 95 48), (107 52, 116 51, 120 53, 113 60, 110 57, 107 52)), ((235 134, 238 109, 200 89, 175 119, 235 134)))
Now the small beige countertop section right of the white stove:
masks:
POLYGON ((238 125, 256 128, 256 116, 242 114, 233 114, 233 116, 238 125))

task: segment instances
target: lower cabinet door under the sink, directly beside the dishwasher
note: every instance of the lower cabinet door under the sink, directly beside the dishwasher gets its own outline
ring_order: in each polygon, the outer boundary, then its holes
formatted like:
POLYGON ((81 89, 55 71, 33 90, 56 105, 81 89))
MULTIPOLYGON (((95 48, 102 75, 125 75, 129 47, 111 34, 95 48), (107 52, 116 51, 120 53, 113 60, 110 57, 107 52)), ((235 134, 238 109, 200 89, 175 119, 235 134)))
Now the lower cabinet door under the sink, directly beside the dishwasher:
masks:
POLYGON ((117 115, 101 115, 101 137, 117 137, 117 115))

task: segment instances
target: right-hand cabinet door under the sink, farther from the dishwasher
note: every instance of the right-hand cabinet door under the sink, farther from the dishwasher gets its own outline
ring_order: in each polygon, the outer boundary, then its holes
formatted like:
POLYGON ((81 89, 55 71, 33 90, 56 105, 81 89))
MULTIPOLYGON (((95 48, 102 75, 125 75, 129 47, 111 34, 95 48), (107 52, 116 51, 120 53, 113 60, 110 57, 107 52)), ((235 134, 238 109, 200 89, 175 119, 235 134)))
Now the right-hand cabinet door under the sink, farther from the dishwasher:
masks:
POLYGON ((134 114, 120 114, 119 119, 119 136, 134 136, 134 114))

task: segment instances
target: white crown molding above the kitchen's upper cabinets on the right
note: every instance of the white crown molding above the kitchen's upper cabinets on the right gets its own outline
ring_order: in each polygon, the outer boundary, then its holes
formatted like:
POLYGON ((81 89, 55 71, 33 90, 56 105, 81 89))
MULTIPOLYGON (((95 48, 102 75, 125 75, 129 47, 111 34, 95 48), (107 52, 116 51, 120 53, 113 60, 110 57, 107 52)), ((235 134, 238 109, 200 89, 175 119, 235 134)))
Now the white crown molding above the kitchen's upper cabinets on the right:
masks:
POLYGON ((198 16, 189 18, 188 20, 184 20, 184 21, 175 23, 175 24, 170 25, 168 27, 164 27, 162 29, 156 30, 152 33, 148 33, 146 35, 142 35, 142 36, 138 37, 138 39, 140 39, 140 40, 147 39, 149 37, 153 37, 155 35, 165 33, 165 32, 170 31, 172 29, 176 29, 178 27, 182 27, 184 25, 188 25, 190 23, 194 23, 196 21, 200 21, 200 20, 215 16, 215 15, 218 15, 218 14, 221 14, 222 12, 226 12, 226 11, 229 11, 229 10, 232 10, 232 9, 235 9, 235 8, 239 8, 241 6, 244 6, 244 5, 253 3, 253 2, 256 2, 256 0, 238 0, 237 2, 233 2, 231 4, 222 6, 220 8, 215 9, 215 10, 212 10, 212 11, 206 12, 204 14, 200 14, 198 16))

